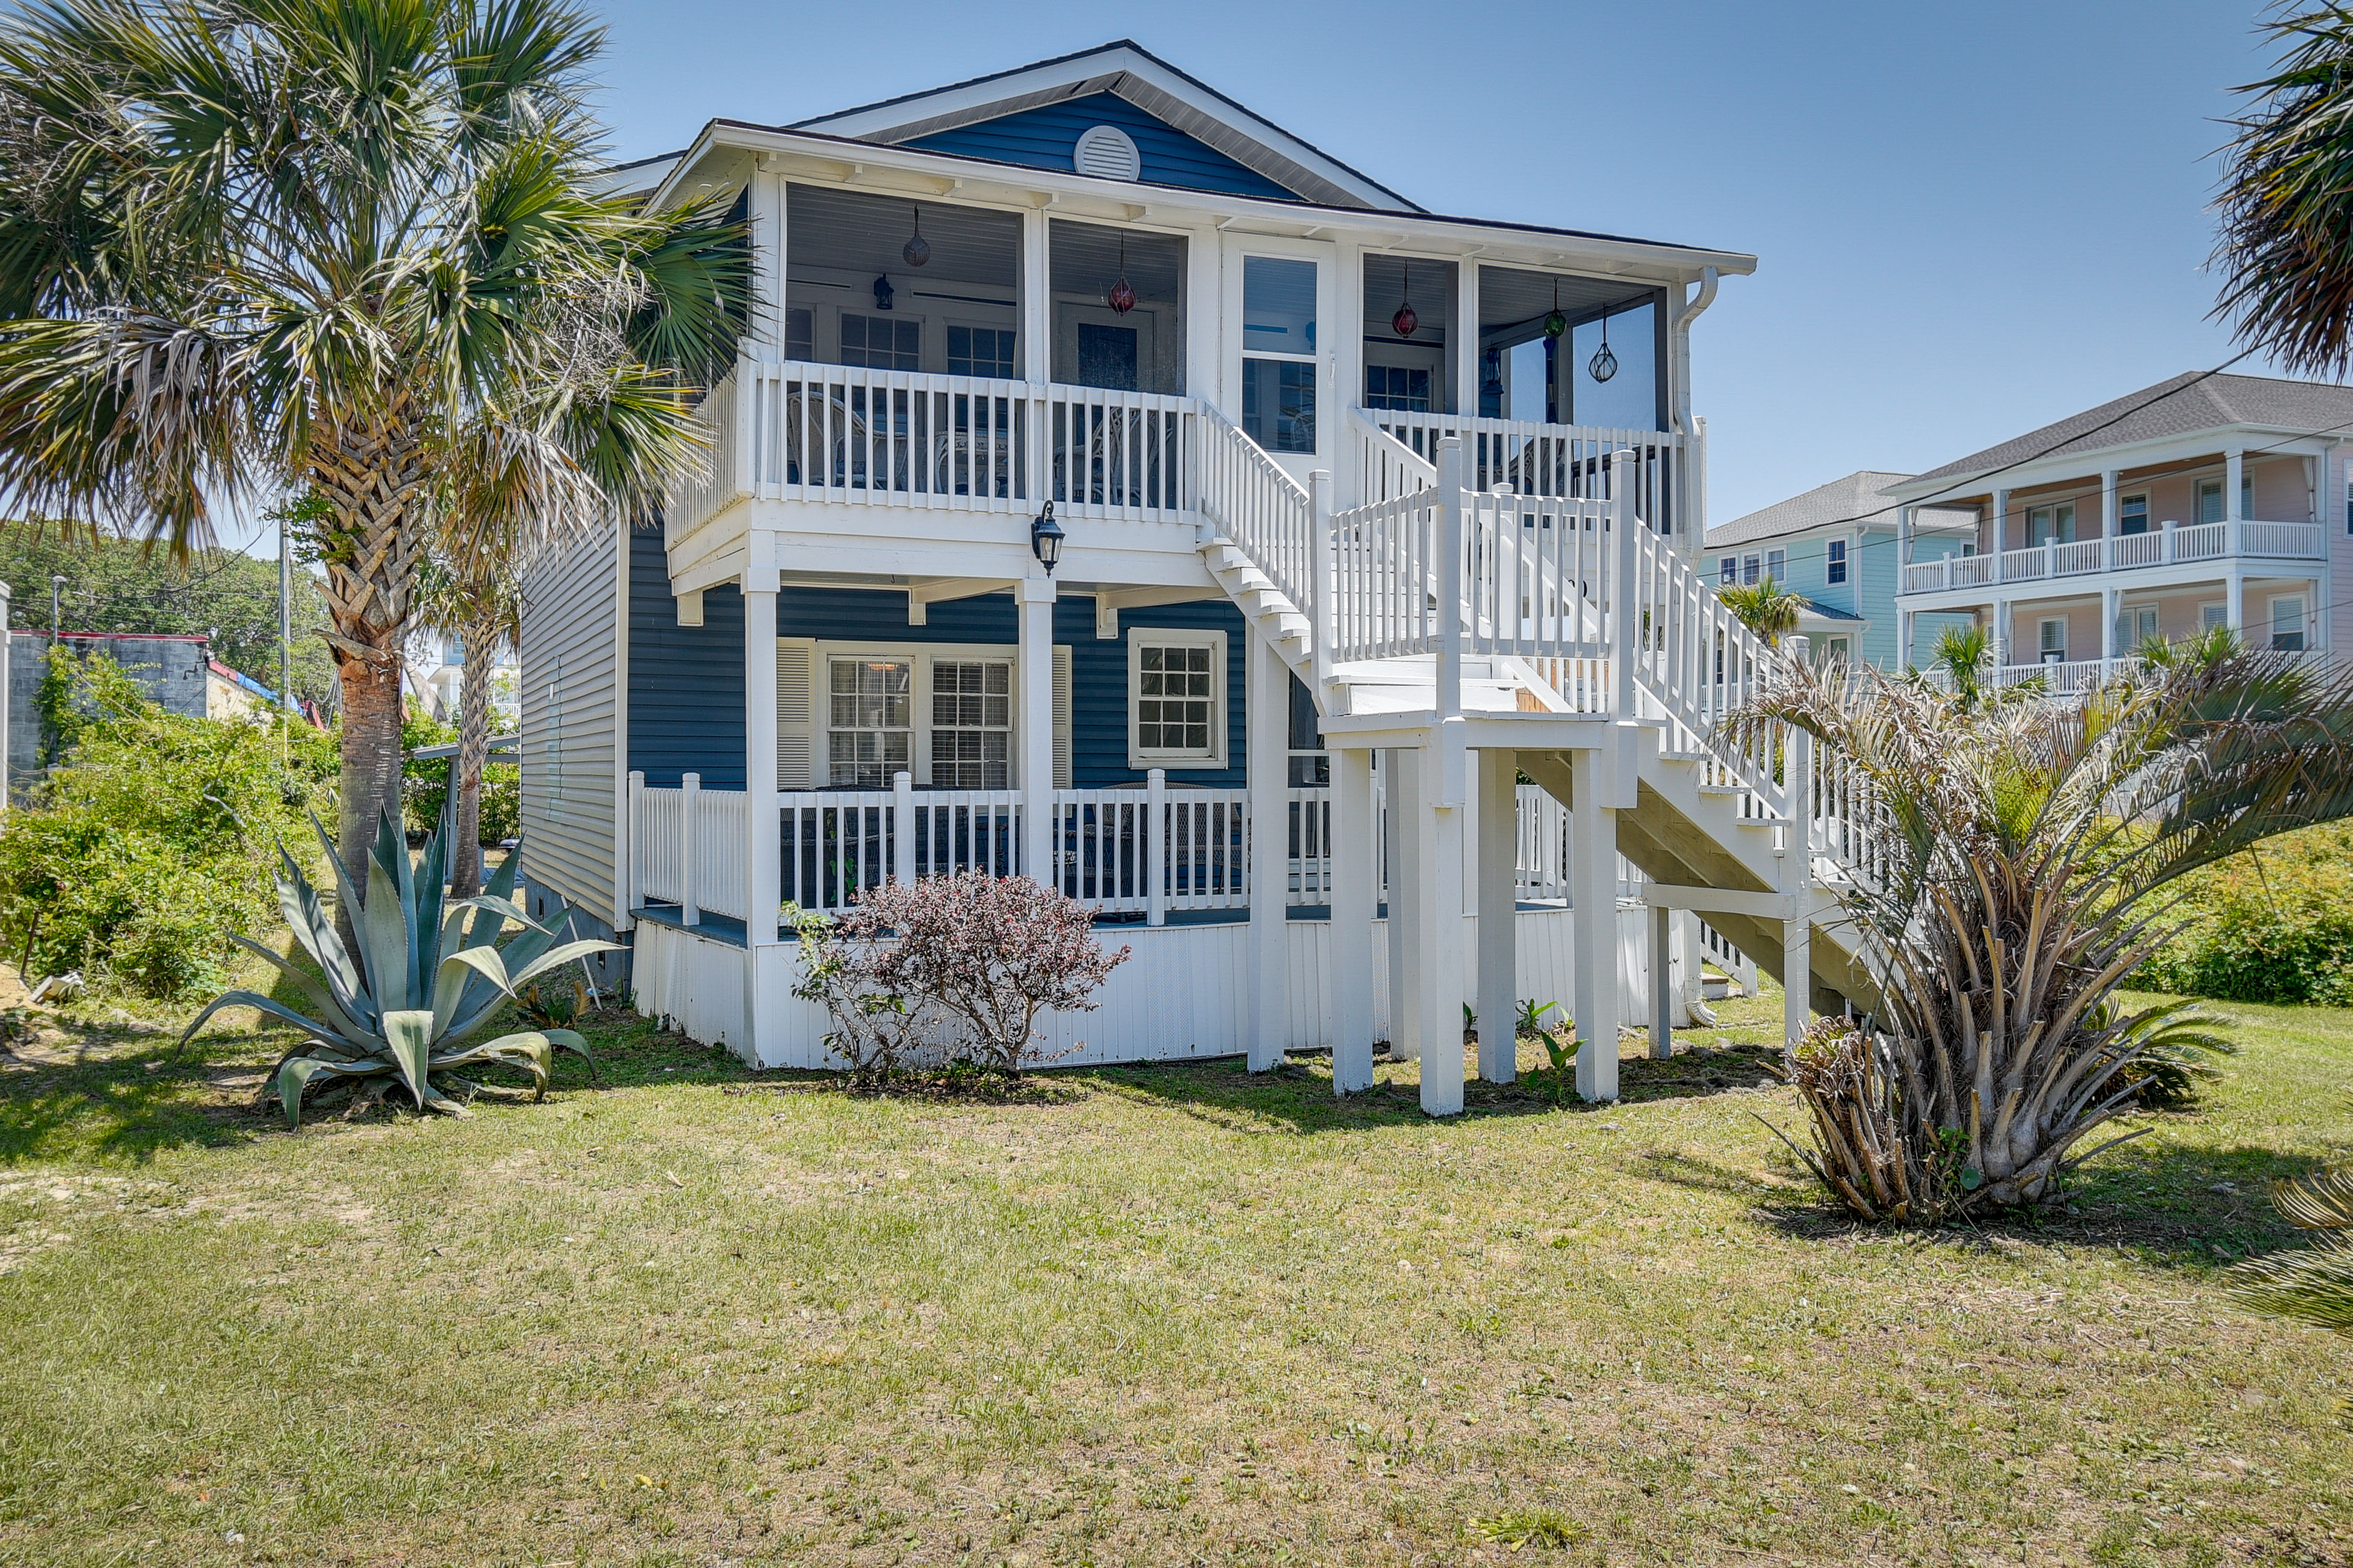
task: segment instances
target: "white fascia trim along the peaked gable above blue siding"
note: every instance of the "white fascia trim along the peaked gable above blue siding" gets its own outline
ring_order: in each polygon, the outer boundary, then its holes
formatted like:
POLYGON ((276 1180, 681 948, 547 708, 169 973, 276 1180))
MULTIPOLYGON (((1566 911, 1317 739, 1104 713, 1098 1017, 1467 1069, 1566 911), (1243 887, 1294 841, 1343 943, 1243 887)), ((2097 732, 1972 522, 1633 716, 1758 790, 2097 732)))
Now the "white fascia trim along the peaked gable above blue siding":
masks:
MULTIPOLYGON (((1021 108, 1059 101, 1064 96, 1118 92, 1122 87, 1120 78, 1136 78, 1136 82, 1141 82, 1148 89, 1144 96, 1160 94, 1174 99, 1195 115, 1214 120, 1228 127, 1231 132, 1238 132, 1240 136, 1257 141, 1275 158, 1299 165, 1308 174, 1353 195, 1367 207, 1393 207, 1398 202, 1412 205, 1388 186, 1374 183, 1365 174, 1358 174, 1355 169, 1346 167, 1332 155, 1320 153, 1299 136, 1292 136, 1280 125, 1261 120, 1257 113, 1242 108, 1240 103, 1202 87, 1200 82, 1186 78, 1179 71, 1167 68, 1165 63, 1151 59, 1148 54, 1127 47, 1099 49, 1064 61, 1047 61, 1040 66, 1031 66, 1028 71, 984 78, 979 82, 965 82, 962 87, 946 87, 939 92, 896 99, 892 103, 875 103, 871 108, 852 108, 838 115, 819 115, 814 120, 795 122, 793 129, 826 132, 828 136, 852 136, 859 141, 868 136, 887 139, 894 134, 927 134, 918 132, 915 127, 932 127, 936 122, 976 125, 981 120, 995 118, 991 110, 1019 113, 1021 108)), ((1153 113, 1151 103, 1136 103, 1136 108, 1153 113)), ((1226 150, 1226 155, 1233 158, 1231 150, 1226 150)))

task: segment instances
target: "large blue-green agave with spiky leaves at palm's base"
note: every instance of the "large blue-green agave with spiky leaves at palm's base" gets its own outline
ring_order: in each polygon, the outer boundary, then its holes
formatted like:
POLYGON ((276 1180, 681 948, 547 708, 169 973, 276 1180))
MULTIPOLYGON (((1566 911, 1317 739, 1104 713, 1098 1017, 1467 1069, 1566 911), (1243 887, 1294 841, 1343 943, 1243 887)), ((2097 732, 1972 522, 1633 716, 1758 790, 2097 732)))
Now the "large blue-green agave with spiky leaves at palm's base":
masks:
POLYGON ((555 931, 525 914, 513 903, 520 853, 506 858, 482 896, 449 898, 447 813, 414 865, 393 818, 384 816, 367 860, 362 900, 327 830, 315 818, 311 827, 327 863, 334 865, 344 907, 358 912, 353 919, 358 961, 336 933, 334 917, 320 905, 311 879, 280 844, 278 907, 325 978, 311 976, 252 938, 231 933, 231 940, 268 959, 308 997, 313 1016, 296 1013, 261 992, 231 990, 195 1016, 181 1044, 228 1006, 249 1006, 292 1023, 308 1039, 278 1058, 271 1077, 294 1128, 301 1126, 301 1098, 313 1081, 353 1084, 362 1093, 400 1088, 416 1110, 461 1112, 456 1095, 485 1088, 464 1077, 466 1072, 494 1065, 522 1067, 532 1074, 532 1098, 546 1093, 558 1048, 581 1056, 595 1072, 595 1056, 574 1030, 522 1030, 466 1044, 501 1001, 513 999, 539 976, 616 947, 602 940, 558 943, 555 931), (511 922, 520 931, 501 947, 499 936, 511 922))

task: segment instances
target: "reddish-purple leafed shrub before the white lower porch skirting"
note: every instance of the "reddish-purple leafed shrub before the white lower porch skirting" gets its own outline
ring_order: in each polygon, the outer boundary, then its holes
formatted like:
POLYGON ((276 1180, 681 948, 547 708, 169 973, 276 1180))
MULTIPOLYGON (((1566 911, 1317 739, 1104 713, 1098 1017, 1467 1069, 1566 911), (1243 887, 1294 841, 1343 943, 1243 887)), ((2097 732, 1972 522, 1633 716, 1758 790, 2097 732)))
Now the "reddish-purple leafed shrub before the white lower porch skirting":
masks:
POLYGON ((1127 961, 1104 952, 1087 905, 1028 877, 929 877, 868 889, 816 931, 802 997, 824 1001, 828 1044, 873 1077, 946 1053, 986 1072, 1019 1074, 1054 1060, 1038 1013, 1089 1011, 1127 961))

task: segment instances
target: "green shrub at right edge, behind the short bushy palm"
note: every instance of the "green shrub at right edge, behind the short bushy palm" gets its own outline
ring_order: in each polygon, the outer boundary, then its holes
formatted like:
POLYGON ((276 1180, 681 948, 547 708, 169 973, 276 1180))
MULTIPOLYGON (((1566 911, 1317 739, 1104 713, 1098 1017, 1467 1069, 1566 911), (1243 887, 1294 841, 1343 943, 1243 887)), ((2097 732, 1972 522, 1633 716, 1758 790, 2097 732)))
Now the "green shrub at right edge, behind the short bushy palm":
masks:
POLYGON ((2141 964, 2141 985, 2353 1006, 2353 825, 2282 835, 2184 884, 2184 926, 2141 964))

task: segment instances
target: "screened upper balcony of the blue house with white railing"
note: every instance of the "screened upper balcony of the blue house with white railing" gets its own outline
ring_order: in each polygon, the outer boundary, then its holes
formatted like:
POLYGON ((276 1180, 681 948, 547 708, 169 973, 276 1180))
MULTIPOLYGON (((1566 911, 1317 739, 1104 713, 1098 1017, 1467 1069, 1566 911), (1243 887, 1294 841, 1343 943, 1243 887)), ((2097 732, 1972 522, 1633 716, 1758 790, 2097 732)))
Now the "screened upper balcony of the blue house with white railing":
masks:
POLYGON ((666 508, 680 588, 725 581, 755 529, 798 536, 812 571, 984 578, 1049 501, 1096 524, 1066 578, 1160 581, 1144 557, 1162 555, 1176 581, 1200 571, 1193 524, 1226 522, 1224 468, 1301 491, 1322 470, 1346 508, 1447 435, 1478 489, 1633 484, 1659 531, 1701 512, 1699 440, 1664 428, 1680 289, 1659 282, 1257 235, 1158 200, 1134 223, 784 183, 779 216, 774 329, 704 402, 711 461, 666 508), (1358 329, 1318 331, 1334 317, 1358 329))

